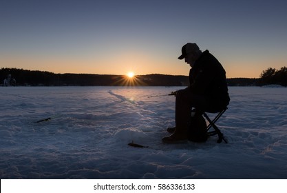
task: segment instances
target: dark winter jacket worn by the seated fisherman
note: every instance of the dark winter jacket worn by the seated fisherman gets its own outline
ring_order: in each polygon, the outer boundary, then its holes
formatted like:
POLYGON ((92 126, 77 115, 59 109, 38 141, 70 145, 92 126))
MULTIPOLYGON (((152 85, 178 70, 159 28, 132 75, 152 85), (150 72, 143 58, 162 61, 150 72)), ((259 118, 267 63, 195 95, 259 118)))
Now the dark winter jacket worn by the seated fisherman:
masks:
POLYGON ((189 72, 190 90, 206 96, 214 108, 224 108, 230 99, 226 84, 226 72, 221 63, 205 50, 189 72))

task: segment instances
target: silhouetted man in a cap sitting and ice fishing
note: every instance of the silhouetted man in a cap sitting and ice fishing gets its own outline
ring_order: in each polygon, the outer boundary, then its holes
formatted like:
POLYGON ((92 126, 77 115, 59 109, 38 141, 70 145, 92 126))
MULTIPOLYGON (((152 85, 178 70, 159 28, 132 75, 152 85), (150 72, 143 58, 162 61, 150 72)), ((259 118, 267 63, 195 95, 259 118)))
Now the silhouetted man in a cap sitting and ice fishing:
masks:
POLYGON ((202 52, 196 43, 187 43, 182 46, 178 59, 184 59, 191 66, 189 87, 176 91, 176 127, 168 129, 173 134, 164 137, 164 143, 188 139, 192 108, 217 112, 226 108, 230 101, 226 72, 209 50, 202 52))

